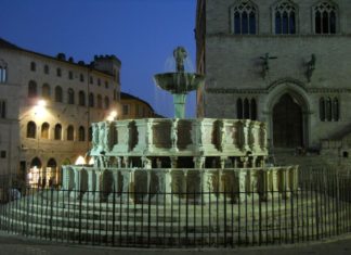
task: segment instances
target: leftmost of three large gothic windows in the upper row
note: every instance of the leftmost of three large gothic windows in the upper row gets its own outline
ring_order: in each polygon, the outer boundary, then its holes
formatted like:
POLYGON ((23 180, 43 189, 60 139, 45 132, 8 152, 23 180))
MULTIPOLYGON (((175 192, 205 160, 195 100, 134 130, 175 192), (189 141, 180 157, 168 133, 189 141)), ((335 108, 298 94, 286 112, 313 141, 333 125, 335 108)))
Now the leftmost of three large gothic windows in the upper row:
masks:
POLYGON ((233 33, 235 35, 257 34, 257 8, 251 1, 243 0, 231 9, 233 33))

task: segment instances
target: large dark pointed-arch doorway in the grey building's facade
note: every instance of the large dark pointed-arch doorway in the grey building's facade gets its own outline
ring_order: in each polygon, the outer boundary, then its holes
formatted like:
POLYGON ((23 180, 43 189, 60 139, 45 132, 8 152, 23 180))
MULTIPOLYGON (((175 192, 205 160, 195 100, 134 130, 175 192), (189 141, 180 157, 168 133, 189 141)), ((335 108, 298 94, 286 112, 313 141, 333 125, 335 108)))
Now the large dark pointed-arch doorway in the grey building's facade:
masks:
POLYGON ((273 144, 275 148, 303 145, 302 109, 289 93, 283 94, 273 107, 273 144))

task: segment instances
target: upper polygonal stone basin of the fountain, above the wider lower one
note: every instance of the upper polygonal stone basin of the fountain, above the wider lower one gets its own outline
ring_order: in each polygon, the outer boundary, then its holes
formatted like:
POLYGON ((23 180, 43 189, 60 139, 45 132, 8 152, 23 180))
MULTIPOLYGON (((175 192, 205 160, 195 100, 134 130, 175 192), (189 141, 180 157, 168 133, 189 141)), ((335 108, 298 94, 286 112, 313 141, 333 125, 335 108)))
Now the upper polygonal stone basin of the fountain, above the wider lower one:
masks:
POLYGON ((194 162, 193 167, 203 167, 204 164, 219 167, 227 160, 243 167, 245 162, 253 160, 249 164, 253 166, 263 164, 268 155, 265 128, 264 123, 248 119, 145 118, 101 122, 92 125, 90 155, 100 162, 100 166, 113 164, 150 168, 147 164, 157 164, 160 158, 160 164, 167 165, 162 167, 171 167, 174 157, 183 157, 177 162, 194 162), (258 160, 259 163, 256 163, 258 160))

